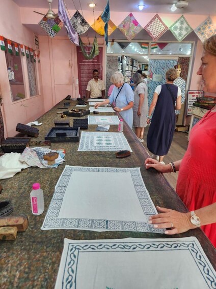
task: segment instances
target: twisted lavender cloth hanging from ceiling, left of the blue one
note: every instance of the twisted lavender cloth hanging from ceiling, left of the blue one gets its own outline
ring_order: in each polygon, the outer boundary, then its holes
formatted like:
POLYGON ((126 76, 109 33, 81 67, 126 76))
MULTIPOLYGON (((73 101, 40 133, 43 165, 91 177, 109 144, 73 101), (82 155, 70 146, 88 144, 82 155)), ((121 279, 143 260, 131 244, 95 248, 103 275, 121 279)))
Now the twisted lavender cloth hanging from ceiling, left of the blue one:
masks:
POLYGON ((74 31, 73 26, 70 23, 70 19, 65 11, 64 0, 59 0, 59 18, 64 23, 64 26, 67 30, 68 37, 71 42, 75 45, 79 45, 78 34, 74 31))

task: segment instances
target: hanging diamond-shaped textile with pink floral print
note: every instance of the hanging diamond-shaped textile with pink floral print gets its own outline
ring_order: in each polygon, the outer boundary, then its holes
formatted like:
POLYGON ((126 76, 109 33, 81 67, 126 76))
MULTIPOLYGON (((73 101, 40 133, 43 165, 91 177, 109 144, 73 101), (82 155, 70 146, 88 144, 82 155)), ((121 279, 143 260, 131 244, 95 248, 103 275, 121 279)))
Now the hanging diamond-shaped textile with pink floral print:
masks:
POLYGON ((143 29, 132 13, 119 24, 118 28, 128 40, 133 39, 143 29))

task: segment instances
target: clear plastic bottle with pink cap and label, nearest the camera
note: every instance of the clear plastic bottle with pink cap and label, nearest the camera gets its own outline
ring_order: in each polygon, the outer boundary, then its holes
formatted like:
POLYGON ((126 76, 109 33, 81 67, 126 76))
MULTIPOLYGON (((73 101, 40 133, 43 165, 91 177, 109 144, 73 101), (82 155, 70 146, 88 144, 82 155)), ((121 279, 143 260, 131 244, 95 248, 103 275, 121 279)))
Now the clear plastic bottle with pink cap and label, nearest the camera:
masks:
POLYGON ((32 189, 33 190, 31 191, 30 194, 32 213, 34 215, 40 215, 44 211, 43 190, 41 190, 39 183, 33 184, 32 189))

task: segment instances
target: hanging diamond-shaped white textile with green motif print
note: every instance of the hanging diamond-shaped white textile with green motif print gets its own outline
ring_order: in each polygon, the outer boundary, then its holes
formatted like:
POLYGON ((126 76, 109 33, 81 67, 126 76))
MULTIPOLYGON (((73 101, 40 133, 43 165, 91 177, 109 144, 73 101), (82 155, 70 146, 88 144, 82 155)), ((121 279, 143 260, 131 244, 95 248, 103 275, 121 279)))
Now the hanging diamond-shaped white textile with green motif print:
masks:
POLYGON ((170 31, 178 41, 183 40, 189 33, 193 31, 187 20, 182 15, 178 20, 170 26, 170 31))

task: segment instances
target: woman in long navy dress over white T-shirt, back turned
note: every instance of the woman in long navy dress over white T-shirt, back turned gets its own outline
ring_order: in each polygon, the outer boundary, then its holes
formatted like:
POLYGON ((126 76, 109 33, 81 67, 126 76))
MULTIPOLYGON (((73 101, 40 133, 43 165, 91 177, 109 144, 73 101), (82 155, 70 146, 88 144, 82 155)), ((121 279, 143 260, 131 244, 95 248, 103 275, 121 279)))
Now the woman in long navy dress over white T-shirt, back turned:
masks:
POLYGON ((147 147, 161 163, 164 163, 164 156, 168 153, 173 140, 176 123, 175 109, 181 108, 181 90, 173 84, 176 78, 177 71, 170 68, 166 72, 167 82, 155 88, 147 116, 147 123, 151 122, 147 135, 147 147))

